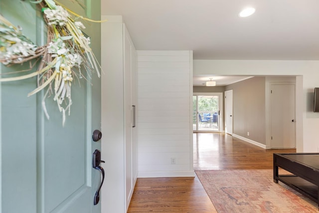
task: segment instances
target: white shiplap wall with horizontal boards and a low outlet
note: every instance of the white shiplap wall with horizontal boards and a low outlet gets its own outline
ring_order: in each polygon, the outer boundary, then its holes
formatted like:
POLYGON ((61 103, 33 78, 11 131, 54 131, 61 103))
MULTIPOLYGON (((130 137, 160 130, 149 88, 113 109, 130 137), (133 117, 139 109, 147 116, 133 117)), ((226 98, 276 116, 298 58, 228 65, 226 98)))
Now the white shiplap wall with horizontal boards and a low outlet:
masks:
POLYGON ((193 177, 192 51, 137 53, 139 177, 193 177))

